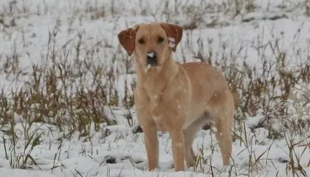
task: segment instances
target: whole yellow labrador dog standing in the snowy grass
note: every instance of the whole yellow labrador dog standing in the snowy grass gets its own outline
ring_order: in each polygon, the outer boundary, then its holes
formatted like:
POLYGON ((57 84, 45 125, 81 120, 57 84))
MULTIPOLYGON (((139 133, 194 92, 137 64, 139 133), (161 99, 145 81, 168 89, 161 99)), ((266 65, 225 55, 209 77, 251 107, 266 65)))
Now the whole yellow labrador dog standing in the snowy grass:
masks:
POLYGON ((217 128, 224 165, 231 156, 231 128, 238 99, 225 77, 210 64, 178 64, 173 60, 182 34, 181 26, 168 23, 139 24, 118 34, 128 55, 135 56, 134 99, 149 170, 159 165, 157 131, 171 135, 175 171, 184 170, 184 159, 187 167, 194 166, 192 142, 208 121, 217 128))

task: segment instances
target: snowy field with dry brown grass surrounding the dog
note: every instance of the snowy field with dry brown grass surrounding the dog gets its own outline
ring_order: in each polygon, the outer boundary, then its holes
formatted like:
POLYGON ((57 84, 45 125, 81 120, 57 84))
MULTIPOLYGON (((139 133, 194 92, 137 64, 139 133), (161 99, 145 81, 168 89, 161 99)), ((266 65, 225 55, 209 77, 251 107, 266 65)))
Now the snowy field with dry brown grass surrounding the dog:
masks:
POLYGON ((309 176, 309 83, 308 0, 2 0, 0 176, 309 176), (195 167, 174 172, 159 132, 146 170, 117 34, 154 21, 182 25, 176 60, 212 63, 238 94, 230 165, 206 126, 195 167))

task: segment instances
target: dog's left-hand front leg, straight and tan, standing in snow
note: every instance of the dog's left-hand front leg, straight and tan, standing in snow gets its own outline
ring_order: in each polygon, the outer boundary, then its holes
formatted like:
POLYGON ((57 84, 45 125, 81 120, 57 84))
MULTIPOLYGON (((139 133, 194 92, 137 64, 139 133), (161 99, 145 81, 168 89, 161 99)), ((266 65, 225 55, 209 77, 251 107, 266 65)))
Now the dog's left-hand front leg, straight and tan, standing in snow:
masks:
POLYGON ((147 126, 144 128, 144 141, 147 154, 148 169, 153 170, 159 164, 159 143, 157 137, 157 130, 153 127, 147 126))

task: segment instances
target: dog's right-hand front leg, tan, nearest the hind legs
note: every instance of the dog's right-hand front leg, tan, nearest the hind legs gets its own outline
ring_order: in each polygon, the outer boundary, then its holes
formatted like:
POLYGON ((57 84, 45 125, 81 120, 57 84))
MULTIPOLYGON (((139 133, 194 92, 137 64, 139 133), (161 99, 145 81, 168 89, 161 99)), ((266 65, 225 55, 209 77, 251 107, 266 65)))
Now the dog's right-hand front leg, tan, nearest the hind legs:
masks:
POLYGON ((173 130, 171 132, 171 139, 174 170, 184 171, 185 140, 182 128, 173 130))

